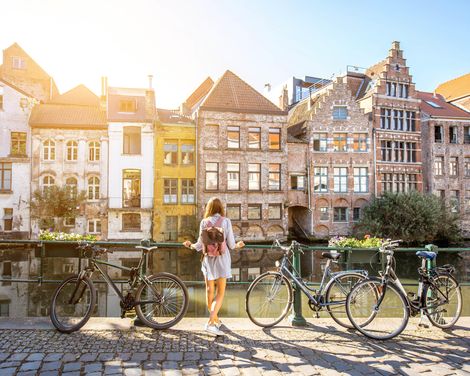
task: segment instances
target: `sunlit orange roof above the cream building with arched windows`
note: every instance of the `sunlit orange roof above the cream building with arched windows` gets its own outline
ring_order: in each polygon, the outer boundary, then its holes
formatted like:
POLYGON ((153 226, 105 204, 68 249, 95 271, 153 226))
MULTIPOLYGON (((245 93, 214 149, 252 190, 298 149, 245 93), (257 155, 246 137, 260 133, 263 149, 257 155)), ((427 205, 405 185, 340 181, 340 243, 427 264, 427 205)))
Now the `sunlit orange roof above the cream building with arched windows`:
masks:
POLYGON ((100 109, 98 97, 84 85, 54 97, 51 103, 34 106, 29 124, 40 128, 107 127, 106 113, 100 109))

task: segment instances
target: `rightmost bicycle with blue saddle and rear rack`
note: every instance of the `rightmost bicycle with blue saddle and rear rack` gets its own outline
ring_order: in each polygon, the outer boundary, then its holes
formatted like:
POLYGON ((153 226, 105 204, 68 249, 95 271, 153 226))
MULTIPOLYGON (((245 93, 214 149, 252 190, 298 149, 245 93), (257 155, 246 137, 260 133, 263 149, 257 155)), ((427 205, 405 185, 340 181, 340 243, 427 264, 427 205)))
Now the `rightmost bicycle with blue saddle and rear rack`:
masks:
POLYGON ((393 255, 399 243, 400 240, 388 240, 382 244, 379 252, 387 258, 385 271, 380 273, 380 278, 370 277, 358 283, 346 300, 346 312, 352 325, 372 339, 385 340, 399 335, 410 315, 422 313, 434 326, 446 329, 457 322, 462 312, 462 292, 452 276, 455 268, 431 266, 436 259, 435 252, 416 252, 421 258, 418 292, 406 292, 395 274, 393 255))

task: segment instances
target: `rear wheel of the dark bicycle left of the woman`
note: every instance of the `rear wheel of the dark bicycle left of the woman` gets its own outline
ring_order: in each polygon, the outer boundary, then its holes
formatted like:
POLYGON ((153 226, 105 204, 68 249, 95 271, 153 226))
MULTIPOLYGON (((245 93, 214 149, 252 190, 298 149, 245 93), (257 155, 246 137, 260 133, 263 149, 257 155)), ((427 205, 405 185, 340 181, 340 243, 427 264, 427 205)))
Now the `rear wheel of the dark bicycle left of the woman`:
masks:
POLYGON ((154 329, 177 324, 188 310, 188 289, 170 273, 158 273, 143 281, 135 294, 135 311, 140 320, 154 329))

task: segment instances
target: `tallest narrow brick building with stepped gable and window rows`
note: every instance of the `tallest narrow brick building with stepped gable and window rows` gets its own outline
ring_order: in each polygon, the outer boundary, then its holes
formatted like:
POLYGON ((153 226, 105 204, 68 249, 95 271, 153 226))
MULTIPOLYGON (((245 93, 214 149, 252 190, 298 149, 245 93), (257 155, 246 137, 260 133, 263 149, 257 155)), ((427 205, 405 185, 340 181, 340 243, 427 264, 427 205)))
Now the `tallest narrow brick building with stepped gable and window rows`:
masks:
POLYGON ((364 73, 348 72, 351 92, 374 132, 376 192, 422 191, 420 100, 399 42, 364 73))

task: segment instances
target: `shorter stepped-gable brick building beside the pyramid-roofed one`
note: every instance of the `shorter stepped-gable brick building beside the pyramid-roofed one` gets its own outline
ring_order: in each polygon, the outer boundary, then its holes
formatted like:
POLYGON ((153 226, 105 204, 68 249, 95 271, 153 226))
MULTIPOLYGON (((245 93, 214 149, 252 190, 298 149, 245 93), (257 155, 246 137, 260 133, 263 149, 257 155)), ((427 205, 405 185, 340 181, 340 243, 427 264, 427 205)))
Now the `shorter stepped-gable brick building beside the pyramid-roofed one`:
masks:
POLYGON ((372 124, 347 78, 335 78, 289 113, 289 154, 299 148, 295 140, 306 145, 304 164, 300 150, 289 155, 289 227, 317 237, 348 234, 374 193, 372 124))

